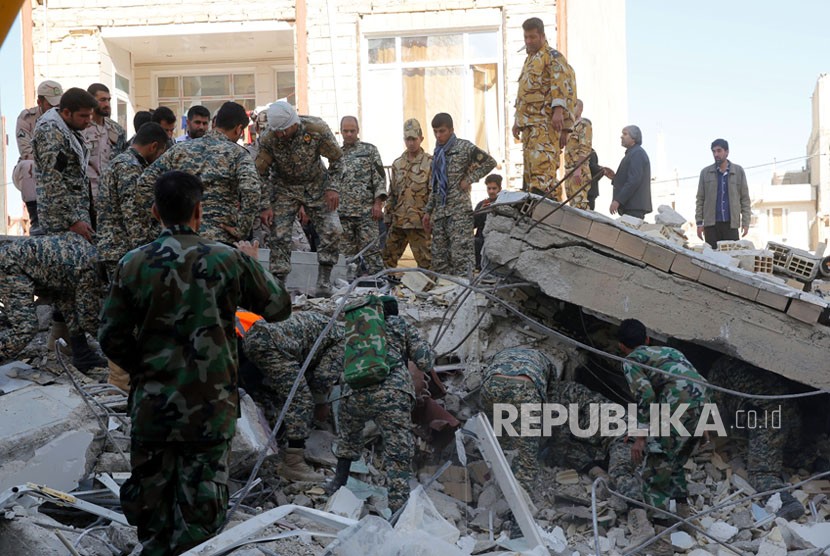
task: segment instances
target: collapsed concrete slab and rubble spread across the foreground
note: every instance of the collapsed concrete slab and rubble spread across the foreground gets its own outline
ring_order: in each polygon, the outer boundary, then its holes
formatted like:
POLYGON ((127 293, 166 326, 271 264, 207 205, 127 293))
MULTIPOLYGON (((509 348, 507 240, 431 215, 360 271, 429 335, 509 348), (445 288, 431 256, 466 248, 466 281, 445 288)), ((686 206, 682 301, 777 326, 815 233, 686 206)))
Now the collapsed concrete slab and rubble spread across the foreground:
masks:
MULTIPOLYGON (((433 392, 433 409, 413 424, 419 484, 411 485, 404 511, 392 523, 384 519, 392 516, 378 481, 376 429, 364 430, 364 457, 352 466, 347 485, 329 497, 322 485, 288 483, 274 473, 272 431, 245 396, 232 453, 232 519, 187 554, 649 553, 632 544, 642 531, 607 500, 592 502, 591 478, 557 466, 555 453, 536 487, 523 494, 507 463, 512 454, 498 447, 477 404, 492 354, 514 346, 539 349, 554 361, 559 378, 630 401, 611 356, 616 325, 637 318, 703 374, 727 361, 786 377, 805 391, 823 391, 830 383, 830 304, 822 281, 827 259, 774 243, 692 250, 679 232, 682 217, 661 207, 656 220, 612 220, 503 193, 488 217, 480 275, 468 282, 404 271, 391 290, 401 315, 433 343, 444 386, 433 392), (523 538, 510 538, 517 528, 523 538)), ((342 284, 341 297, 348 293, 342 284)), ((351 293, 365 291, 358 286, 351 293)), ((295 308, 334 315, 343 303, 337 295, 299 296, 295 308)), ((64 371, 44 353, 44 335, 25 361, 0 371, 0 553, 136 552, 117 496, 129 471, 126 396, 99 384, 103 375, 64 371)), ((336 393, 330 399, 339 403, 336 393)), ((804 426, 817 433, 815 450, 826 455, 826 395, 803 401, 815 409, 804 426)), ((307 459, 327 474, 336 464, 335 438, 315 430, 306 448, 307 459)), ((798 522, 776 518, 775 497, 752 498, 746 462, 735 448, 731 438, 714 439, 690 459, 699 530, 667 531, 673 550, 807 556, 830 545, 830 480, 819 475, 808 481, 806 461, 787 461, 793 494, 807 514, 798 522)))

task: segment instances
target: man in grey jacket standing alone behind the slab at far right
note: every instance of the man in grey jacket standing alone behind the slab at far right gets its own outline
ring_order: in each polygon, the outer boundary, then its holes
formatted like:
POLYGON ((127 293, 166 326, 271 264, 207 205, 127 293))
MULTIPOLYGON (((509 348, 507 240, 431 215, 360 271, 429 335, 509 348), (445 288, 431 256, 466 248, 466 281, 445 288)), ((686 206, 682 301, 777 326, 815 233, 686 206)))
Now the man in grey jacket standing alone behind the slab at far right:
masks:
POLYGON ((744 169, 729 160, 729 143, 726 139, 712 141, 715 163, 700 171, 697 185, 695 220, 697 237, 706 240, 712 249, 718 241, 738 239, 749 232, 749 187, 744 169))

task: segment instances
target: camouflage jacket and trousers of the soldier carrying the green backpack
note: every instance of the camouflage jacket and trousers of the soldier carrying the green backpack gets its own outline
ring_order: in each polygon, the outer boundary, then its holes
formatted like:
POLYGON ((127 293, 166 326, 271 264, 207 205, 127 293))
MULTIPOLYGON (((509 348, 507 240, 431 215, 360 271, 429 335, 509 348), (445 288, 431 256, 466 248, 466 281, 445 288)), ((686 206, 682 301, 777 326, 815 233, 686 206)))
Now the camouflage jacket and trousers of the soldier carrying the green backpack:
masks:
POLYGON ((383 456, 389 508, 394 512, 406 503, 415 444, 411 412, 415 390, 407 361, 426 373, 435 364, 435 352, 418 329, 399 316, 386 317, 389 375, 380 384, 349 390, 338 414, 340 437, 335 455, 356 461, 363 451, 363 426, 374 420, 383 436, 383 456))

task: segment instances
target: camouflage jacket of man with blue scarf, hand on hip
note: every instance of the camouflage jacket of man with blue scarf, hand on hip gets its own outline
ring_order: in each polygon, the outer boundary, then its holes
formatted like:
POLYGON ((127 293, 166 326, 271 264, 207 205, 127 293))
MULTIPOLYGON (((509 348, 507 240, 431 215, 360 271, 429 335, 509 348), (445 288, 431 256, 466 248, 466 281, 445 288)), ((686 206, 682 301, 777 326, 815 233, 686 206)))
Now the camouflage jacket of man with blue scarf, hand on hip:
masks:
MULTIPOLYGON (((442 207, 446 208, 446 214, 459 214, 462 211, 472 213, 473 204, 470 201, 470 192, 461 190, 461 182, 466 180, 473 184, 496 167, 495 158, 466 139, 456 139, 455 145, 447 151, 446 156, 447 203, 444 205, 442 202, 438 184, 430 183, 430 194, 424 208, 424 211, 432 214, 433 218, 436 217, 433 212, 442 207)), ((472 230, 470 232, 472 233, 472 230)))

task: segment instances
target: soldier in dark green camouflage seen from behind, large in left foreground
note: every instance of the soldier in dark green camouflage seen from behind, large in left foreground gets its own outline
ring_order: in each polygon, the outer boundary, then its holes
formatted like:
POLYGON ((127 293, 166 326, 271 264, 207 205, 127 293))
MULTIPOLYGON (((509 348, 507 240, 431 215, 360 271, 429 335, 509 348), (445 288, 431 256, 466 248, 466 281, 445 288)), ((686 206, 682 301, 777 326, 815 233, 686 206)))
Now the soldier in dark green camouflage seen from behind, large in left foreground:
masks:
POLYGON ((121 507, 147 556, 180 554, 225 519, 239 413, 237 307, 268 321, 291 312, 256 260, 194 231, 201 196, 190 174, 158 179, 153 212, 165 229, 119 262, 98 335, 131 377, 132 474, 121 507))

